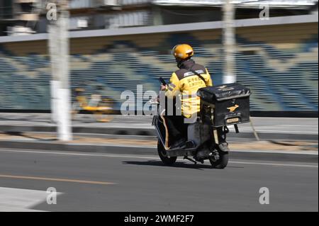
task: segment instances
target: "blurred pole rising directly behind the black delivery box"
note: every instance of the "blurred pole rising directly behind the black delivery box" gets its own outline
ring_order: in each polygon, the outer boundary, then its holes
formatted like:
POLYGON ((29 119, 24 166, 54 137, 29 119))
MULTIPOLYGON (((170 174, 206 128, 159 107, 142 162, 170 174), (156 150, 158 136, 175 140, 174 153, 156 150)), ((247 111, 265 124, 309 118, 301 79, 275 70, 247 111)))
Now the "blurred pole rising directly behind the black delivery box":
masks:
POLYGON ((230 0, 225 0, 223 5, 223 47, 225 52, 223 84, 236 82, 234 18, 235 8, 230 0))

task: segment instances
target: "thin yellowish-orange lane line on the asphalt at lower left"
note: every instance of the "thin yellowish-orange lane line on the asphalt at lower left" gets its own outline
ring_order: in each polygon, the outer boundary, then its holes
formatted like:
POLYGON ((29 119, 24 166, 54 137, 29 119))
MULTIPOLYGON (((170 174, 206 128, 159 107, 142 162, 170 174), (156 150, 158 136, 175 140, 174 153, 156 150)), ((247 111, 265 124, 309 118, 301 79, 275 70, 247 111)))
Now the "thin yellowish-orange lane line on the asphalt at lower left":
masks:
POLYGON ((104 181, 84 181, 84 180, 75 180, 75 179, 59 179, 59 178, 49 178, 49 177, 18 176, 18 175, 6 175, 6 174, 0 174, 0 178, 59 181, 59 182, 72 182, 72 183, 90 183, 90 184, 102 184, 102 185, 115 184, 112 182, 104 182, 104 181))

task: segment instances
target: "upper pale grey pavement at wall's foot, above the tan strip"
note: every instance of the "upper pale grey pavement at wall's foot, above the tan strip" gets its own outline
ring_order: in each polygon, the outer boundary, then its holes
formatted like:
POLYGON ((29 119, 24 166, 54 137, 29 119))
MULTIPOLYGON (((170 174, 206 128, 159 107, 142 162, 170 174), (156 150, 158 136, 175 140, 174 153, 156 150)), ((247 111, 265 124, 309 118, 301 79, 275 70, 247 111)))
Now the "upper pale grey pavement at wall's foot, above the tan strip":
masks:
MULTIPOLYGON (((318 140, 318 118, 252 118, 261 140, 318 140)), ((152 116, 113 115, 110 123, 97 123, 93 115, 77 115, 74 133, 155 136, 152 116)), ((250 123, 230 126, 228 137, 255 139, 250 123)), ((0 132, 55 132, 47 113, 0 113, 0 132)))

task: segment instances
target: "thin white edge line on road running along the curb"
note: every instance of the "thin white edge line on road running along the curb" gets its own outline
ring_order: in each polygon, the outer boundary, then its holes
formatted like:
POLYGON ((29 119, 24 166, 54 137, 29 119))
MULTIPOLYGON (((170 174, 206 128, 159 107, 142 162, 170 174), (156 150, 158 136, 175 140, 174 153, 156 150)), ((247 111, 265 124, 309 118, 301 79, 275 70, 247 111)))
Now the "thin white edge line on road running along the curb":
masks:
MULTIPOLYGON (((31 151, 31 150, 13 150, 13 149, 0 149, 0 152, 25 152, 25 153, 38 153, 38 154, 57 154, 57 155, 75 155, 75 156, 89 156, 89 157, 111 157, 111 158, 124 158, 124 159, 155 159, 159 160, 156 156, 141 156, 138 154, 86 154, 86 153, 71 153, 71 152, 52 152, 52 151, 31 151)), ((179 162, 188 162, 188 160, 178 159, 179 162)), ((238 162, 230 161, 233 164, 254 164, 266 166, 295 166, 295 167, 309 167, 318 168, 318 164, 281 164, 274 162, 238 162)))

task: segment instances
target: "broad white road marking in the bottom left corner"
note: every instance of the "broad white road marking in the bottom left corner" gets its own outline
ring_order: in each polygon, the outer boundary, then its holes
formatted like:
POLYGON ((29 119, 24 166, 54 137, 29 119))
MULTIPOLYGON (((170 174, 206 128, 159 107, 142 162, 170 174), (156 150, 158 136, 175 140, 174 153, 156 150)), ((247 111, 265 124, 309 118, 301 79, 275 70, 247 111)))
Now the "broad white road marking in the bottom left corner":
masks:
POLYGON ((0 212, 41 211, 32 208, 46 200, 46 191, 0 187, 0 212))

